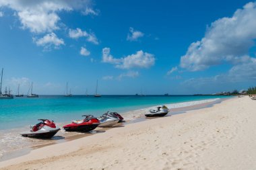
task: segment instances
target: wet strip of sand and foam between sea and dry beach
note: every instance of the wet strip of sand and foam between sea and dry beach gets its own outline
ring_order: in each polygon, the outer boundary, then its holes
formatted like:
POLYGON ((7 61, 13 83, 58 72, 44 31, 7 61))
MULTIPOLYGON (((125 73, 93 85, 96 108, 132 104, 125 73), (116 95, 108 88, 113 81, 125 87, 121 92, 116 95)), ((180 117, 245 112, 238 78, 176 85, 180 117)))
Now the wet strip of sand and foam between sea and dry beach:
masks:
MULTIPOLYGON (((196 103, 194 105, 192 104, 192 105, 181 107, 181 108, 179 108, 179 106, 178 106, 178 108, 170 108, 170 112, 166 116, 171 116, 171 115, 175 115, 175 114, 183 114, 183 113, 185 113, 189 110, 199 110, 201 108, 210 108, 216 103, 221 103, 222 101, 224 101, 226 99, 231 99, 231 98, 232 97, 230 97, 230 98, 195 100, 195 101, 187 101, 187 102, 172 103, 172 104, 164 104, 164 105, 168 105, 170 107, 170 105, 176 105, 176 104, 178 104, 178 105, 185 104, 186 105, 186 103, 191 103, 191 102, 196 103), (204 102, 204 101, 210 101, 210 102, 204 102), (197 102, 199 104, 197 104, 197 102), (203 103, 201 103, 201 102, 203 102, 203 103)), ((71 141, 71 140, 77 140, 79 138, 84 138, 84 137, 87 137, 87 136, 91 136, 91 135, 94 135, 96 133, 105 132, 106 130, 110 130, 112 128, 124 127, 127 124, 134 124, 134 123, 137 123, 137 122, 143 122, 143 121, 147 121, 147 120, 150 120, 150 119, 154 119, 154 118, 146 118, 143 114, 145 114, 145 112, 148 112, 148 110, 150 110, 152 108, 156 108, 156 106, 157 105, 154 105, 154 106, 151 106, 151 107, 148 107, 148 108, 142 108, 142 109, 139 109, 139 110, 129 110, 128 112, 121 113, 123 115, 123 117, 125 118, 125 120, 127 120, 127 121, 123 122, 122 124, 118 124, 114 127, 96 128, 96 130, 93 130, 91 132, 86 132, 86 133, 82 133, 82 132, 68 132, 67 133, 67 132, 64 132, 63 130, 61 130, 61 135, 62 136, 59 136, 58 135, 59 132, 58 132, 57 135, 55 135, 53 137, 53 139, 49 139, 49 140, 40 140, 40 139, 29 138, 30 140, 38 140, 38 142, 42 142, 42 143, 41 144, 34 144, 32 146, 26 146, 24 148, 16 149, 16 150, 13 150, 13 151, 9 151, 8 153, 6 153, 5 155, 0 157, 0 163, 3 162, 3 161, 8 161, 9 159, 15 159, 17 157, 22 157, 24 155, 27 155, 31 151, 33 151, 37 148, 42 148, 44 146, 60 144, 60 143, 68 142, 68 141, 71 141), (134 113, 136 113, 136 114, 134 114, 134 113)), ((63 124, 65 124, 65 123, 67 123, 67 122, 59 123, 60 127, 63 126, 63 124)))

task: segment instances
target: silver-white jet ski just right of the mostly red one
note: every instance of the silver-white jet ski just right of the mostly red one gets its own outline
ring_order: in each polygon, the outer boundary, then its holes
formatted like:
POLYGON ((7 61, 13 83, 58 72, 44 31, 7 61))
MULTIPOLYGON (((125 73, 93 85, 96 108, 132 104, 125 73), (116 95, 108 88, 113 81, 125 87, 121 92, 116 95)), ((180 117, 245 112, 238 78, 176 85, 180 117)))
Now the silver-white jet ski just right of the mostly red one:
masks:
POLYGON ((103 114, 98 118, 100 120, 99 127, 111 127, 119 122, 119 118, 115 116, 115 114, 110 114, 106 112, 106 114, 103 114))

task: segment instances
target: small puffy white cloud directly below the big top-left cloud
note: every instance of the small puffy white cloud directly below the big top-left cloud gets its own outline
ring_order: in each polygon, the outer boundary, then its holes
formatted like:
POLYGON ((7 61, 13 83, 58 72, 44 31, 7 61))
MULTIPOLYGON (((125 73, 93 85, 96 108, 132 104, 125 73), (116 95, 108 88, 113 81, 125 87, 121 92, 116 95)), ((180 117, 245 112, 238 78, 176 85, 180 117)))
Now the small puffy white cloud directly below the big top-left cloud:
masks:
POLYGON ((63 39, 58 38, 55 33, 46 34, 43 38, 36 39, 34 38, 37 46, 44 46, 45 50, 51 49, 51 46, 59 48, 61 45, 65 45, 63 39))

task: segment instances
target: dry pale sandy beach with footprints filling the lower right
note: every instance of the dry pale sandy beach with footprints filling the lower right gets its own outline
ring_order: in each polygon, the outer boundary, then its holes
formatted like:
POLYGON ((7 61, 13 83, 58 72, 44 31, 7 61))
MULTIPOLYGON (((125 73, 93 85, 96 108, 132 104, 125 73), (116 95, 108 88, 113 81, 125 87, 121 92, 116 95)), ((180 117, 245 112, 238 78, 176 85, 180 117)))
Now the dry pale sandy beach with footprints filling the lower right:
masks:
POLYGON ((0 169, 256 169, 255 122, 255 101, 237 97, 37 148, 0 169))

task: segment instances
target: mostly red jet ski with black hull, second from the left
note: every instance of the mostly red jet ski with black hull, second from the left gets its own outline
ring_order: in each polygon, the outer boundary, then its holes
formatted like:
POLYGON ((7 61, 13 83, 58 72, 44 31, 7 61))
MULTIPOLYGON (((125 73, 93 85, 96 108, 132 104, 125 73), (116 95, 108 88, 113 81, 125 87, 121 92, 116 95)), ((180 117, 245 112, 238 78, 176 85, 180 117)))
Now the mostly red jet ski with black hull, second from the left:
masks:
POLYGON ((84 120, 73 120, 71 124, 63 126, 66 131, 89 132, 97 128, 100 121, 92 115, 83 115, 84 120))

